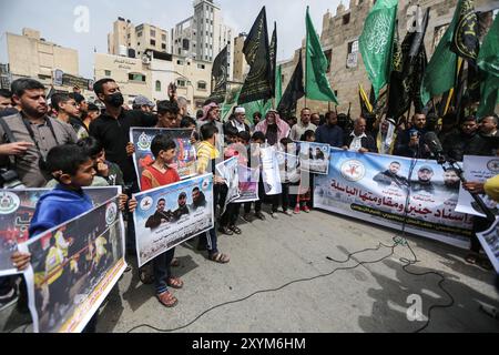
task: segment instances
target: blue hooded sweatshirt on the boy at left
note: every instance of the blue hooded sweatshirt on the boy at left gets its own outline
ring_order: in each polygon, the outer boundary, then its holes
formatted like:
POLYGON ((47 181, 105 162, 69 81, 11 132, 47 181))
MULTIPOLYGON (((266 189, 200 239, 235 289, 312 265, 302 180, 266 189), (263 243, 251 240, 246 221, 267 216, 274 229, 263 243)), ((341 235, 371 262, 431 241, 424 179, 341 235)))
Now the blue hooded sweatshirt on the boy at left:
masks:
POLYGON ((30 237, 68 222, 93 209, 92 200, 83 192, 71 191, 61 184, 45 193, 37 203, 30 224, 30 237))

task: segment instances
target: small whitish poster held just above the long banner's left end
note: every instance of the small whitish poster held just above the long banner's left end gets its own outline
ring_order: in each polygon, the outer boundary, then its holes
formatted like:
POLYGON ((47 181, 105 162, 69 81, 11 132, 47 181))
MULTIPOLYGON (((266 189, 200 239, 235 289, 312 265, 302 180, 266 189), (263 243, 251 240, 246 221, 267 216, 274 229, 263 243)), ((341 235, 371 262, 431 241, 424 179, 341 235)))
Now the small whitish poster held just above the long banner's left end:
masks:
POLYGON ((329 144, 295 142, 302 171, 327 175, 329 172, 329 144))

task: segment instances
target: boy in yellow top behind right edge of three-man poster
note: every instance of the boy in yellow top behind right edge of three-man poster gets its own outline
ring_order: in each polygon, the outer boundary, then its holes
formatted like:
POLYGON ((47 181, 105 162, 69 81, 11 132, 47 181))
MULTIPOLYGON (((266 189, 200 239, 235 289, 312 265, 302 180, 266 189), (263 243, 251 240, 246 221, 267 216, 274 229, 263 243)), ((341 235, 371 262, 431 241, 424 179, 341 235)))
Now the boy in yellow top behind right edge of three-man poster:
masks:
MULTIPOLYGON (((215 161, 220 156, 220 152, 215 148, 218 129, 213 124, 204 124, 200 130, 203 141, 197 146, 197 173, 205 174, 212 172, 214 176, 213 186, 213 210, 216 206, 216 200, 220 194, 220 186, 224 183, 222 179, 215 174, 215 161)), ((201 241, 201 240, 200 240, 201 241)), ((213 262, 226 264, 230 257, 226 254, 218 252, 216 230, 213 227, 206 234, 206 247, 208 250, 208 258, 213 262)), ((202 242, 201 242, 202 243, 202 242)), ((200 248, 200 247, 198 247, 200 248)))

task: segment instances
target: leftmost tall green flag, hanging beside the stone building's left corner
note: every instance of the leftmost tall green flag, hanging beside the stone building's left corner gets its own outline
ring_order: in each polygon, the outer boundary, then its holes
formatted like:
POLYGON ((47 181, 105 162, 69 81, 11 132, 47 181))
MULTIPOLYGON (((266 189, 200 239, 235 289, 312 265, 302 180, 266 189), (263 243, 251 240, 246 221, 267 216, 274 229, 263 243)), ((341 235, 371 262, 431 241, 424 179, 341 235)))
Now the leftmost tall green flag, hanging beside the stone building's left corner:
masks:
POLYGON ((327 58, 324 55, 320 41, 315 32, 310 16, 306 16, 307 48, 306 48, 306 83, 305 92, 308 99, 318 101, 333 101, 338 104, 335 93, 330 89, 326 78, 328 67, 327 58))

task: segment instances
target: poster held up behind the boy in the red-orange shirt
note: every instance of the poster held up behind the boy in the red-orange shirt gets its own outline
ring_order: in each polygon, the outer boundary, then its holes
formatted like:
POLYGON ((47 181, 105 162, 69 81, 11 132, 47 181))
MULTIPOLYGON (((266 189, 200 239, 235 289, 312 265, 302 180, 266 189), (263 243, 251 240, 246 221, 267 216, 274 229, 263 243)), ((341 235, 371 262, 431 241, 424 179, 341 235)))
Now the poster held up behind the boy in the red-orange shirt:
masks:
POLYGON ((180 178, 184 180, 196 175, 196 150, 191 143, 193 132, 193 130, 184 129, 130 129, 130 141, 135 144, 133 163, 135 164, 139 184, 144 169, 154 162, 154 156, 151 152, 151 143, 152 140, 159 134, 165 134, 176 144, 176 156, 173 161, 172 168, 177 171, 180 178))

